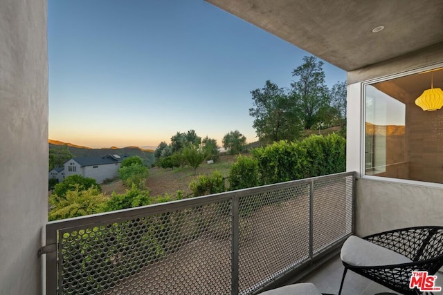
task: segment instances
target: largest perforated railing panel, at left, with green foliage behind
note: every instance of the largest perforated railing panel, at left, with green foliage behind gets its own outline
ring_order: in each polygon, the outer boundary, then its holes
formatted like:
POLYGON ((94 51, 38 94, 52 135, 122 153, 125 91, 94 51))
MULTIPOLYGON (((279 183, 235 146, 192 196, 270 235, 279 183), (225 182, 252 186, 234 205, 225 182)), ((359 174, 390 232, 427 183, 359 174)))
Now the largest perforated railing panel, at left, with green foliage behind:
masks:
POLYGON ((231 200, 60 231, 62 294, 229 294, 231 200))

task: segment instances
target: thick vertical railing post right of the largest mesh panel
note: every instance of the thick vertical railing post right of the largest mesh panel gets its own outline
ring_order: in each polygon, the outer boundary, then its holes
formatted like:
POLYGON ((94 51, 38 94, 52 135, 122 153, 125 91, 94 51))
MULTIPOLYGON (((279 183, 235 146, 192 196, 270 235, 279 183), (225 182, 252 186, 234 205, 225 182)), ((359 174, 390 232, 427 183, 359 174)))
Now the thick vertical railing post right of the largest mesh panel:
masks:
POLYGON ((239 269, 238 269, 238 238, 239 238, 239 228, 238 228, 238 222, 239 222, 239 197, 237 195, 233 195, 232 198, 232 237, 231 237, 231 249, 232 249, 232 258, 231 258, 231 287, 232 287, 232 294, 237 295, 238 294, 238 276, 239 276, 239 269))

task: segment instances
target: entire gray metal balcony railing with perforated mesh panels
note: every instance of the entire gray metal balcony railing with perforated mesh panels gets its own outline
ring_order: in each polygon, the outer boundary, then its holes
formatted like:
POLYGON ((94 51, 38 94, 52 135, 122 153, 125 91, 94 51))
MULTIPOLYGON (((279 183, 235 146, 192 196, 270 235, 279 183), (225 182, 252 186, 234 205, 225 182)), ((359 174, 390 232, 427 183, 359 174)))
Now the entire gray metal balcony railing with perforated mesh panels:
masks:
POLYGON ((49 222, 48 294, 251 294, 352 233, 354 173, 49 222))

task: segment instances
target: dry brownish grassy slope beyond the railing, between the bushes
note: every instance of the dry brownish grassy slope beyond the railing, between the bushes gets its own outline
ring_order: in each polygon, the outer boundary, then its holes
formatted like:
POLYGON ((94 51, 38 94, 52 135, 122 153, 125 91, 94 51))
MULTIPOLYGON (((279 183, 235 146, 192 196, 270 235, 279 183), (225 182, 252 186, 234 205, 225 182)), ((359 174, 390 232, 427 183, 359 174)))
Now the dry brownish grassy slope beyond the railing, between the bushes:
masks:
MULTIPOLYGON (((146 180, 146 187, 150 190, 152 196, 157 196, 163 193, 175 193, 181 189, 185 196, 190 193, 188 188, 192 180, 197 179, 198 175, 209 175, 217 170, 224 175, 228 175, 230 164, 235 162, 235 155, 222 155, 219 162, 214 164, 202 163, 197 168, 197 175, 194 175, 192 167, 183 167, 176 169, 152 168, 150 175, 146 180)), ((123 183, 118 180, 109 184, 102 184, 102 191, 108 196, 115 191, 116 193, 125 193, 123 183)))

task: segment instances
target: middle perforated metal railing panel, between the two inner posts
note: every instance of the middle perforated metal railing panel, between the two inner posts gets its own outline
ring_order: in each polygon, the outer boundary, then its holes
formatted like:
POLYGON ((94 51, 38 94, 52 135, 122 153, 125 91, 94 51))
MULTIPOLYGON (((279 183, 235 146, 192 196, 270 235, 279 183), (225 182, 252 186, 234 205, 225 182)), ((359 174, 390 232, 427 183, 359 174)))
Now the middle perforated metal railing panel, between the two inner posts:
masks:
POLYGON ((240 294, 309 257, 309 184, 244 196, 239 216, 240 294))

